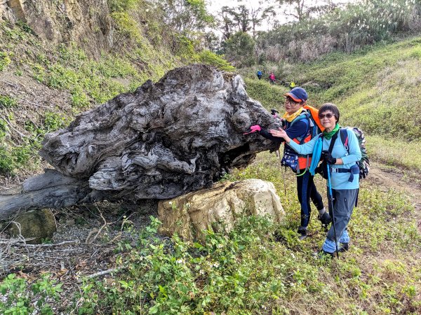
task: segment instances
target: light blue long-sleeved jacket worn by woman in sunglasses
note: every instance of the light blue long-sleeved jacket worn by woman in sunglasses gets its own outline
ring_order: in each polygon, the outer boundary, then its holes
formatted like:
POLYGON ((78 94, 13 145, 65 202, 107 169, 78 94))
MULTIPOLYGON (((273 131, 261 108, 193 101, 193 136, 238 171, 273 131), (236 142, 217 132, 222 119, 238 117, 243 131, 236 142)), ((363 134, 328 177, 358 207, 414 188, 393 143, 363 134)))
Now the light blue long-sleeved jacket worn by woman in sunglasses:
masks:
MULTIPOLYGON (((338 137, 333 145, 332 149, 332 157, 333 158, 341 158, 343 161, 343 165, 331 165, 333 169, 350 169, 353 165, 356 164, 359 160, 361 160, 361 150, 359 148, 358 139, 352 130, 347 129, 348 133, 348 151, 345 149, 345 146, 342 144, 340 137, 338 137)), ((314 137, 311 141, 307 142, 307 144, 296 144, 294 141, 290 141, 288 146, 293 148, 297 153, 305 155, 313 153, 314 144, 319 139, 321 134, 317 137, 314 137)), ((330 146, 331 139, 326 139, 323 137, 323 150, 328 150, 330 146)), ((330 181, 332 184, 333 189, 357 189, 359 188, 359 176, 358 174, 354 176, 354 180, 352 182, 348 181, 349 173, 330 173, 330 181)))

